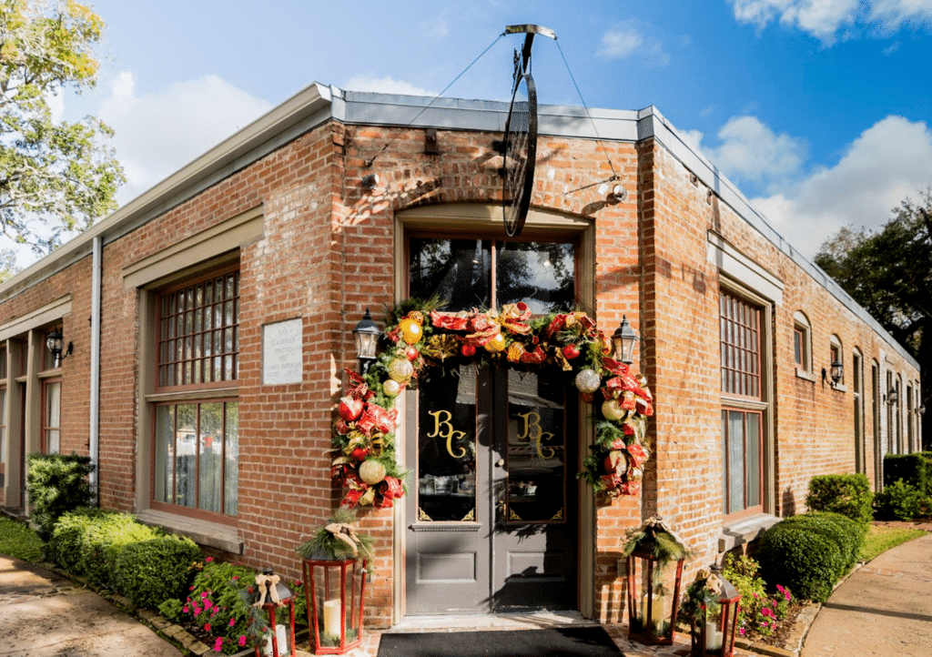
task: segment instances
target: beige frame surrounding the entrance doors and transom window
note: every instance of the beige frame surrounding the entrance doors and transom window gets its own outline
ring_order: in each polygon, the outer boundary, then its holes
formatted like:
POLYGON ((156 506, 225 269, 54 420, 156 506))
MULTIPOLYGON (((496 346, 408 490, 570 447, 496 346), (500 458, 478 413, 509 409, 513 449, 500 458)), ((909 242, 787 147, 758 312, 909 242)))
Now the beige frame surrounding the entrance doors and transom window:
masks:
MULTIPOLYGON (((457 226, 459 231, 504 231, 501 224, 500 204, 487 203, 445 203, 439 205, 418 206, 409 210, 395 212, 394 216, 394 301, 404 301, 405 287, 405 231, 409 229, 432 228, 449 231, 450 226, 457 226)), ((576 236, 579 239, 577 296, 581 308, 596 317, 596 226, 595 222, 585 217, 565 212, 555 212, 531 208, 525 222, 524 235, 541 238, 559 238, 576 236)), ((400 395, 399 426, 395 435, 404 436, 407 431, 408 409, 400 395)), ((579 402, 578 418, 578 459, 580 463, 588 454, 589 445, 595 440, 596 428, 590 414, 585 412, 584 403, 579 402)), ((398 441, 397 458, 402 468, 410 467, 406 454, 405 441, 398 441)), ((577 609, 585 618, 595 617, 595 568, 596 568, 596 497, 591 486, 584 486, 577 480, 577 609)), ((405 617, 404 587, 407 564, 405 562, 405 522, 404 504, 395 504, 392 508, 392 549, 391 549, 391 623, 402 623, 405 617)))

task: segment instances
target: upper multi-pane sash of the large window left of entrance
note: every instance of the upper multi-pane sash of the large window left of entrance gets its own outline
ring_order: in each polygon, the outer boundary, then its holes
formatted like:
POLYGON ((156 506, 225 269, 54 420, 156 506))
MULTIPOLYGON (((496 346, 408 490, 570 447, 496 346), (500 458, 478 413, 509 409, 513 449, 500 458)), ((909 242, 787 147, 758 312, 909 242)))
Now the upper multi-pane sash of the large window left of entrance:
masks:
POLYGON ((158 299, 158 388, 223 385, 238 377, 240 272, 158 299))

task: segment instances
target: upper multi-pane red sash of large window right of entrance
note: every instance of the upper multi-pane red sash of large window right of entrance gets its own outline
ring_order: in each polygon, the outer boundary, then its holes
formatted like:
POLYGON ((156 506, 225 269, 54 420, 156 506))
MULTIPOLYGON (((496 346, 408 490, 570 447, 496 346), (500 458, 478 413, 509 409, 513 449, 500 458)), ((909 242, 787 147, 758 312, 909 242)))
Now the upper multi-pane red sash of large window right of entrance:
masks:
POLYGON ((761 309, 722 290, 719 304, 721 391, 761 398, 761 309))

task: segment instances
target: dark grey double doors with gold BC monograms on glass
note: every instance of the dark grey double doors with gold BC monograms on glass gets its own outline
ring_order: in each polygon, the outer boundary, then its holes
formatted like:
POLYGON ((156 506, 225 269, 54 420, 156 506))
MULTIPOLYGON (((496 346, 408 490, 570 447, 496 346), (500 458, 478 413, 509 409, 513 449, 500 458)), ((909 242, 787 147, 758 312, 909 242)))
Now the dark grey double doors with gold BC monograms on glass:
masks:
POLYGON ((421 376, 406 404, 406 614, 576 608, 570 390, 549 370, 421 376))

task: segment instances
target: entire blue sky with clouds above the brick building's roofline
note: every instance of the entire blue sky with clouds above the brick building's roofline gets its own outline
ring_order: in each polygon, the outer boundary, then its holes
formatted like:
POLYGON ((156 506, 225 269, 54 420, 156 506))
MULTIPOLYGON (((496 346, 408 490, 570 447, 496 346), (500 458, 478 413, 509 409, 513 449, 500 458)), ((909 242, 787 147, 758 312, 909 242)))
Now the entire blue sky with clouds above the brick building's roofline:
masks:
POLYGON ((590 107, 654 105, 808 256, 932 185, 932 0, 92 5, 99 85, 62 112, 117 130, 121 203, 313 81, 433 95, 491 45, 445 95, 505 99, 523 37, 498 37, 526 22, 559 39, 541 103, 582 104, 571 72, 590 107))

